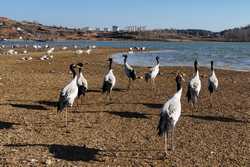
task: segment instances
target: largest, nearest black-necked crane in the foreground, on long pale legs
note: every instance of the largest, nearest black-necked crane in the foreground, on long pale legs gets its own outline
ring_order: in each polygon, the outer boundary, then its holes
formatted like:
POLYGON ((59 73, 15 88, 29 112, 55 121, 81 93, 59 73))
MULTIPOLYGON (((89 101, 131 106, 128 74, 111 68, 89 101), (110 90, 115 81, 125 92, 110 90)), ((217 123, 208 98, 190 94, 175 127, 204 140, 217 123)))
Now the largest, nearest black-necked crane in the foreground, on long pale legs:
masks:
POLYGON ((168 150, 168 135, 171 131, 171 149, 174 150, 174 128, 181 115, 181 94, 183 75, 176 76, 177 92, 162 107, 158 124, 158 135, 165 137, 165 152, 168 150))

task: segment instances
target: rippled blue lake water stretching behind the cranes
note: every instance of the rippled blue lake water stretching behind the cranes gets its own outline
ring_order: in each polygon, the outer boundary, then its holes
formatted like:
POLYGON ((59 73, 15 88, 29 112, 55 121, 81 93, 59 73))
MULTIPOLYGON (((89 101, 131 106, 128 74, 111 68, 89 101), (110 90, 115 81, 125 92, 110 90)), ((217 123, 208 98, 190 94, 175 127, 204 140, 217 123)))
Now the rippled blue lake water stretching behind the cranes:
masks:
MULTIPOLYGON (((0 41, 0 45, 33 45, 34 41, 0 41)), ((88 45, 114 48, 143 47, 155 49, 151 52, 130 54, 128 62, 137 66, 152 66, 156 56, 160 57, 161 66, 193 66, 198 59, 201 66, 209 66, 214 60, 217 68, 250 71, 250 43, 233 42, 151 42, 151 41, 48 41, 41 45, 69 46, 88 45)), ((122 63, 122 53, 113 55, 114 61, 122 63)))

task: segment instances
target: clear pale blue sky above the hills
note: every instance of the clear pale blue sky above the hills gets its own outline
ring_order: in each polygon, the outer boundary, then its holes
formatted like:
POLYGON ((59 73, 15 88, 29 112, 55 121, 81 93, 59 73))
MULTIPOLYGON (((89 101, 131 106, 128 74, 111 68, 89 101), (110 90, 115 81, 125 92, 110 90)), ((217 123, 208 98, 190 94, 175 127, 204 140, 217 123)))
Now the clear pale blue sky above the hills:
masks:
POLYGON ((250 24, 250 0, 3 0, 0 16, 67 27, 221 31, 250 24))

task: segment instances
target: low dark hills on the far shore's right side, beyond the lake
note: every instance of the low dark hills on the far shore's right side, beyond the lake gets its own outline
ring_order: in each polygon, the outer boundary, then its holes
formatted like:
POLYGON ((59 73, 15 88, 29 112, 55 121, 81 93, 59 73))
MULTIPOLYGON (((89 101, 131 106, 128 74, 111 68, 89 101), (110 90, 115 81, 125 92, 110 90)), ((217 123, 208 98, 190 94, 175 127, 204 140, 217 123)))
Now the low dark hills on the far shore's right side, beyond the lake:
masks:
POLYGON ((144 32, 114 32, 98 35, 100 38, 106 37, 131 40, 250 42, 250 25, 221 32, 199 29, 164 29, 144 32))

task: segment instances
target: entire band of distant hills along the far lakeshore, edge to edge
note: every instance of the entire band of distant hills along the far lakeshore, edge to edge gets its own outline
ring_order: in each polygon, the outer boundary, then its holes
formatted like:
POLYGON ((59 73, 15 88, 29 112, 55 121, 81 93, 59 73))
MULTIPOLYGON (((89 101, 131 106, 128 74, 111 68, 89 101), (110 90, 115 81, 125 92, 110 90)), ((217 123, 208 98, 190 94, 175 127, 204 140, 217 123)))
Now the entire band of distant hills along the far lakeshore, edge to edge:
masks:
POLYGON ((250 41, 250 25, 212 32, 199 29, 162 29, 142 32, 94 32, 76 28, 47 26, 38 22, 15 21, 0 17, 0 39, 96 39, 96 40, 157 40, 157 41, 250 41))

